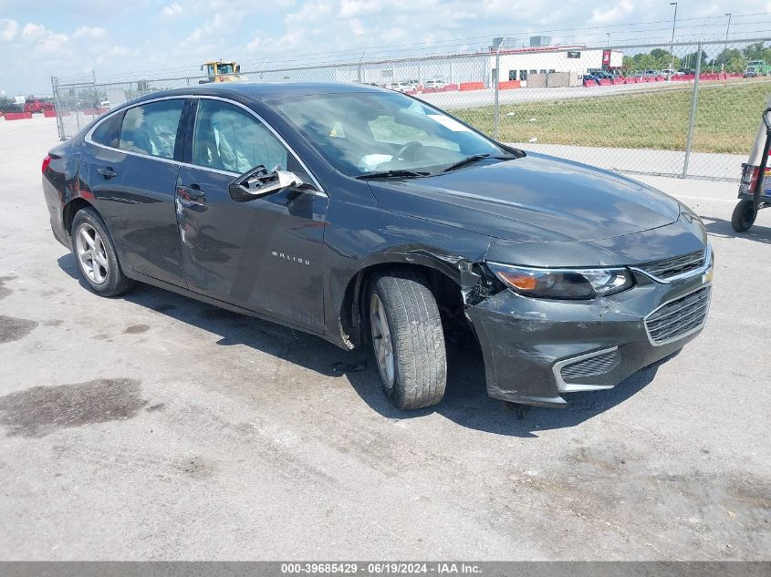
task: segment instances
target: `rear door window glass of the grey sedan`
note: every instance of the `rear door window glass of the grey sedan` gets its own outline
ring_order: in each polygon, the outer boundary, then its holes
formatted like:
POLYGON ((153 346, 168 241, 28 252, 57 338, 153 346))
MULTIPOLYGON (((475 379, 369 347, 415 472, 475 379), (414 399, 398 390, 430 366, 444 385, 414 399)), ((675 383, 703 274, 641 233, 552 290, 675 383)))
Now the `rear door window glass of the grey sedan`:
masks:
POLYGON ((183 99, 173 99, 129 108, 120 127, 118 148, 173 159, 183 107, 183 99))

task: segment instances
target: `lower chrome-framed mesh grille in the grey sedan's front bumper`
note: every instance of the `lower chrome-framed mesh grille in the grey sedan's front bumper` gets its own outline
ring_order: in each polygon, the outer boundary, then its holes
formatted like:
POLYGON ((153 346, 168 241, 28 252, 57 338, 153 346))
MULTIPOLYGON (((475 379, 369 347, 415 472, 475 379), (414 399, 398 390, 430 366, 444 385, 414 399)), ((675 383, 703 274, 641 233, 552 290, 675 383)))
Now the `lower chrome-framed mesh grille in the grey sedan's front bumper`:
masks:
POLYGON ((657 308, 645 318, 653 345, 666 345, 702 327, 710 304, 710 287, 686 294, 657 308))

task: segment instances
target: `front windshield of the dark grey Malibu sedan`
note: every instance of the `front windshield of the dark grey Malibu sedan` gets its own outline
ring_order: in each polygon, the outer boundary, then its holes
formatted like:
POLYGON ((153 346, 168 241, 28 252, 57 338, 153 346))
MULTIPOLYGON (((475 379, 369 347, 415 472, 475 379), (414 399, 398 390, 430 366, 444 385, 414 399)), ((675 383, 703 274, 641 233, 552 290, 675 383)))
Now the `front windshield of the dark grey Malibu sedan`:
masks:
POLYGON ((386 170, 436 173, 469 156, 508 154, 442 111, 398 93, 325 94, 274 104, 348 176, 386 170))

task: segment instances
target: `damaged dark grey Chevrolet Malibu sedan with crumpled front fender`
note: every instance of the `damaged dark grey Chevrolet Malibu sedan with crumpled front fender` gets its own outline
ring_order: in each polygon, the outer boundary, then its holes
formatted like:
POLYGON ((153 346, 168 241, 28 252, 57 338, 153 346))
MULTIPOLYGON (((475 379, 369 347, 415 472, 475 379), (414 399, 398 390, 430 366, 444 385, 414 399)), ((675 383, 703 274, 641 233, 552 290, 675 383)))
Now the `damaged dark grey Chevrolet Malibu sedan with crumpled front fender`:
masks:
POLYGON ((43 189, 95 293, 140 281, 369 345, 401 409, 442 399, 449 327, 478 340, 491 397, 565 407, 682 348, 710 303, 679 201, 381 88, 153 93, 51 149, 43 189))

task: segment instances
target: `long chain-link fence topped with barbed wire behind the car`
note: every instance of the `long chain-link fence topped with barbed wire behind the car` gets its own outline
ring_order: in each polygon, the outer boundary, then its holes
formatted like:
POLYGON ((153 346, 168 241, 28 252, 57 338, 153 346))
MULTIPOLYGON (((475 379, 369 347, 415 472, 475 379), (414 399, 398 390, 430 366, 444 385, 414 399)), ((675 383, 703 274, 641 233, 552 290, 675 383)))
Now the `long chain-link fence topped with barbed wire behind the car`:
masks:
MULTIPOLYGON (((531 46, 474 54, 270 67, 226 80, 391 88, 526 150, 605 169, 738 180, 771 94, 769 38, 640 46, 531 46)), ((127 100, 222 77, 53 77, 59 137, 127 100)))

